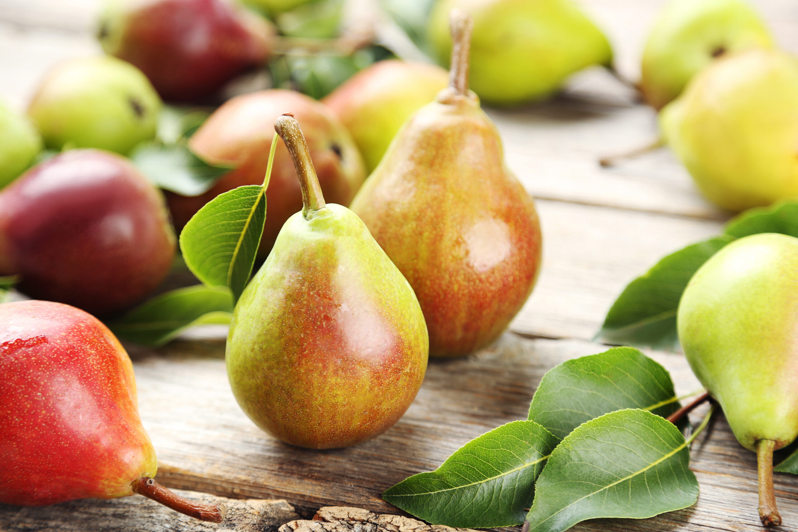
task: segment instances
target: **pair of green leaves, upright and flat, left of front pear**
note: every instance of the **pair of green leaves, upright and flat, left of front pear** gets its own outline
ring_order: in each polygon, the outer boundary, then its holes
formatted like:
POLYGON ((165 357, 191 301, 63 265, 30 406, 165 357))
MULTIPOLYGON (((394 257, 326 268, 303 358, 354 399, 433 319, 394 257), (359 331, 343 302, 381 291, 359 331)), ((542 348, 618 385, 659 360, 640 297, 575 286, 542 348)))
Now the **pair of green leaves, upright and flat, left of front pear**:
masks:
POLYGON ((157 347, 196 325, 230 323, 255 266, 278 139, 275 133, 263 184, 217 195, 180 233, 184 264, 203 284, 160 294, 109 323, 117 337, 157 347))

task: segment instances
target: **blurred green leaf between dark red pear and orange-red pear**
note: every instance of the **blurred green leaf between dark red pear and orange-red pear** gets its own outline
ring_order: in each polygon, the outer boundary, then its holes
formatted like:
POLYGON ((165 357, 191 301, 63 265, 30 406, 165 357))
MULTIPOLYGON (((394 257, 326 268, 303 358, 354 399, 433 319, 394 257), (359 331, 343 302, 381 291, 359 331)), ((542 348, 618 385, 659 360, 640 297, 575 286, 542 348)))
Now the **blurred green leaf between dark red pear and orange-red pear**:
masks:
POLYGON ((230 171, 229 167, 207 164, 185 144, 144 142, 133 149, 130 158, 156 187, 187 196, 204 194, 230 171))

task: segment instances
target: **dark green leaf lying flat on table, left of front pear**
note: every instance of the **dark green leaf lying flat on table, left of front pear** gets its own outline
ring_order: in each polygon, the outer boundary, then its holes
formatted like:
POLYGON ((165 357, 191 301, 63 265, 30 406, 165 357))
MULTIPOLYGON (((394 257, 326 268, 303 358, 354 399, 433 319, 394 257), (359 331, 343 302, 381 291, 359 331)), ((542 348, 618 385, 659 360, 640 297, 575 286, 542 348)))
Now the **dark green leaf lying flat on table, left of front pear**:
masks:
POLYGON ((117 337, 157 347, 196 325, 230 323, 232 313, 227 288, 188 286, 145 301, 108 326, 117 337))

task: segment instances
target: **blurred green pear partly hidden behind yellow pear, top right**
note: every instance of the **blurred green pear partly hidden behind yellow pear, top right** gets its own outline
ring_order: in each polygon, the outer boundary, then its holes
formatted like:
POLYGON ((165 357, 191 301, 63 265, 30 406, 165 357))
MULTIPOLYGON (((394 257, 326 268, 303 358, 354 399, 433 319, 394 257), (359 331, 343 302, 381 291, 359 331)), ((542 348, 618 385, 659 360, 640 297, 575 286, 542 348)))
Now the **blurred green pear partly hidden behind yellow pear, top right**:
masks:
POLYGON ((717 57, 773 44, 770 30, 745 0, 672 0, 646 41, 640 89, 660 109, 717 57))

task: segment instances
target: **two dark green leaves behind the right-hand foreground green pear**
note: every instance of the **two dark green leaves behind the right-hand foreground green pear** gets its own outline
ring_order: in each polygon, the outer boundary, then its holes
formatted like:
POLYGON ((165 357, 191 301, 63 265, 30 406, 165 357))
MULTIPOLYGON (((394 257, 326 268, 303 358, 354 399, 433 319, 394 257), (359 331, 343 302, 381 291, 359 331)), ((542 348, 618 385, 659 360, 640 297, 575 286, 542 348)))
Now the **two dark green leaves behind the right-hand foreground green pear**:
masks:
POLYGON ((798 237, 798 202, 784 201, 772 207, 749 209, 731 220, 723 234, 662 258, 626 286, 606 314, 596 339, 618 345, 678 349, 676 313, 690 278, 726 244, 757 233, 798 237))

